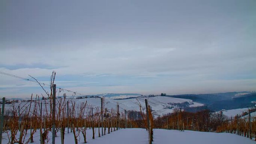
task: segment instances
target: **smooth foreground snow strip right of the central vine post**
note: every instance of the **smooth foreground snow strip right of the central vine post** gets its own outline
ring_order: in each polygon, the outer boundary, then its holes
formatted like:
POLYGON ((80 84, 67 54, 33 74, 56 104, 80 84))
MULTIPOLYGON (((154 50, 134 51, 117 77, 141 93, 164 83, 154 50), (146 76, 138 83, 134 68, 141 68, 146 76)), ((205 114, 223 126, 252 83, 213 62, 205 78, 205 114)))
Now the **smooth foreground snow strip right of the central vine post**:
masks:
POLYGON ((254 140, 229 133, 154 129, 153 144, 255 144, 254 140))

